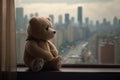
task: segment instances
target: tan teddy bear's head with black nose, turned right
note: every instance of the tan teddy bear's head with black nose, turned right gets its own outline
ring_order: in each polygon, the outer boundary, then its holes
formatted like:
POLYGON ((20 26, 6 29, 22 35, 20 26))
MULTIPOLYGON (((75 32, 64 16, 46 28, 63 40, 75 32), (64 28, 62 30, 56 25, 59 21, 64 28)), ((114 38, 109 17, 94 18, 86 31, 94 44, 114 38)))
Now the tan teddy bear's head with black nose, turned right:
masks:
POLYGON ((52 28, 50 18, 33 17, 29 21, 28 36, 40 40, 49 40, 54 37, 56 31, 52 28))

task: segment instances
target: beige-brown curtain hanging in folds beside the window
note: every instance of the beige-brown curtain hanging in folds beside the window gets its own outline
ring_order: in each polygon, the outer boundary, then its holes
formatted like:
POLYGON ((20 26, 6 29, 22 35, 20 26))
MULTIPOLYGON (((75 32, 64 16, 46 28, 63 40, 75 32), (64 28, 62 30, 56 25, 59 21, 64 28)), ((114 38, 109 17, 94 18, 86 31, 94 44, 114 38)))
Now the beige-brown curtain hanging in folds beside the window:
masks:
POLYGON ((0 0, 0 72, 5 72, 0 80, 13 80, 11 72, 16 72, 15 43, 14 0, 0 0))

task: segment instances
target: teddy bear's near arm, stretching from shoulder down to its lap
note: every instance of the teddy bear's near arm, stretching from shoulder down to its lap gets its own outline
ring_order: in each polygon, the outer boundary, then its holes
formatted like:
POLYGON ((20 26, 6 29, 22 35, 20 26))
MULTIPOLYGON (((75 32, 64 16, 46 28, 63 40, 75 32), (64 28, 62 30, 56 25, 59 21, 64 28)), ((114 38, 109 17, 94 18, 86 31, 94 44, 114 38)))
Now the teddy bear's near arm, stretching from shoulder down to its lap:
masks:
POLYGON ((26 47, 29 54, 33 57, 40 57, 47 61, 51 61, 53 59, 53 55, 50 52, 40 48, 35 41, 28 41, 26 47))

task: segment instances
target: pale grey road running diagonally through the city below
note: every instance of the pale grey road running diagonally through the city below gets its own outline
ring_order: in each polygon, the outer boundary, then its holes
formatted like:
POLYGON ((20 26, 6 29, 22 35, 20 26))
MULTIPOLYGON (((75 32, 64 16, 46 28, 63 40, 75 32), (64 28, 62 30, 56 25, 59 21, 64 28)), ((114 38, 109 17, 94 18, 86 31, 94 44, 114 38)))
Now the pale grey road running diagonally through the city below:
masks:
POLYGON ((88 44, 86 41, 78 42, 78 45, 67 51, 67 55, 63 56, 63 64, 76 64, 81 62, 81 51, 88 44))

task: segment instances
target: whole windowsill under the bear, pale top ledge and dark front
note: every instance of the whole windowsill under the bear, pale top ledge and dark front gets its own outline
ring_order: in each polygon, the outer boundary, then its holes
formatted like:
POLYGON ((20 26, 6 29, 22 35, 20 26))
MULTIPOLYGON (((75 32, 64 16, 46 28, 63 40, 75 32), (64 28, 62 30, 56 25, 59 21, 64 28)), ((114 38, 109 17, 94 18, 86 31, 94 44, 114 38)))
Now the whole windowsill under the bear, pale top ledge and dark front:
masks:
POLYGON ((60 71, 26 71, 17 68, 17 80, 120 80, 120 68, 64 68, 60 71))

